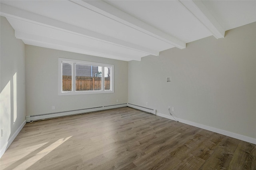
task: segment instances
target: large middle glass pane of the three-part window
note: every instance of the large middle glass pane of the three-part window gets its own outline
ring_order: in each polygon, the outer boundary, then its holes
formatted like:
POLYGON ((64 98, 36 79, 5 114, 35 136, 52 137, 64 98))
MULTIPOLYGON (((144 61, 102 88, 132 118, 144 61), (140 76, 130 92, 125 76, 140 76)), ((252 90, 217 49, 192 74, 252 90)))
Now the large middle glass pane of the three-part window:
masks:
POLYGON ((76 91, 101 90, 101 67, 76 64, 76 91))

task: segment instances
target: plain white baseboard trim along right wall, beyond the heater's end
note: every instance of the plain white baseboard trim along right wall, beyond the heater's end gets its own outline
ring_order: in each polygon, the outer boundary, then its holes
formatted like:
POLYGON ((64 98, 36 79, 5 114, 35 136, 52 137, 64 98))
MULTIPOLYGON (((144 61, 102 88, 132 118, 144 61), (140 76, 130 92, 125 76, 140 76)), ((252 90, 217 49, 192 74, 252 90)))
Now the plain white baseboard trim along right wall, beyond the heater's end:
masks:
MULTIPOLYGON (((171 115, 165 115, 165 114, 162 114, 162 113, 156 113, 156 115, 160 116, 160 117, 167 118, 167 119, 174 120, 171 115)), ((236 138, 236 139, 239 139, 239 140, 244 140, 246 142, 250 142, 252 144, 256 144, 256 138, 251 138, 251 137, 248 137, 248 136, 244 136, 242 134, 237 134, 237 133, 229 132, 229 131, 222 130, 222 129, 219 129, 219 128, 209 127, 209 126, 206 126, 206 125, 202 125, 202 124, 199 124, 199 123, 194 123, 194 122, 187 121, 187 120, 184 120, 184 119, 179 119, 179 118, 176 118, 176 119, 179 122, 185 123, 187 125, 203 128, 203 129, 206 129, 206 130, 209 130, 209 131, 212 131, 212 132, 216 132, 216 133, 219 133, 219 134, 230 136, 232 138, 236 138)))

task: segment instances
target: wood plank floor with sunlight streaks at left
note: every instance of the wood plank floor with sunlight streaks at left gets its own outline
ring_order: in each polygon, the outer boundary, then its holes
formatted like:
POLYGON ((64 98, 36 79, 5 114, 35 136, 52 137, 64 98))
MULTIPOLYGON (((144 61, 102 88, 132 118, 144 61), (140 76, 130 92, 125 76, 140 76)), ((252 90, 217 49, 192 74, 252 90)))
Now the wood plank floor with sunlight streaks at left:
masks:
POLYGON ((256 145, 128 107, 27 123, 1 170, 256 170, 256 145))

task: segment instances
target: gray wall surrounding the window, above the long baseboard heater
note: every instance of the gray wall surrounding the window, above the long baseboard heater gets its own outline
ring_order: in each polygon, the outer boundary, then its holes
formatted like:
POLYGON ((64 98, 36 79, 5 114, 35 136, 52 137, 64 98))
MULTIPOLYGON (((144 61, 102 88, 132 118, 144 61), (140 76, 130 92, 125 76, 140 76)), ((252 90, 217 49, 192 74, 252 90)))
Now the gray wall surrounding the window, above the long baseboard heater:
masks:
POLYGON ((26 111, 40 115, 127 103, 128 62, 25 45, 26 111), (58 95, 58 58, 114 65, 114 93, 58 95), (118 99, 118 103, 116 100, 118 99), (55 110, 52 110, 55 106, 55 110))

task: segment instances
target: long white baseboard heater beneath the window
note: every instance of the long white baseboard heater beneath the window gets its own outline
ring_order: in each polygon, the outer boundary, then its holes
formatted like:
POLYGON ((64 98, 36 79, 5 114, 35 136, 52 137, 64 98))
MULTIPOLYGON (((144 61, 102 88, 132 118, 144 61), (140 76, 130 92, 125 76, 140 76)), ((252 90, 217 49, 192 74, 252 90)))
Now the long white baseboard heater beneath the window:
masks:
POLYGON ((86 109, 77 109, 77 110, 72 110, 72 111, 46 113, 46 114, 41 114, 41 115, 31 115, 31 116, 26 116, 26 122, 38 121, 38 120, 42 120, 42 119, 50 119, 50 118, 55 118, 55 117, 63 117, 63 116, 69 116, 69 115, 79 115, 79 114, 83 114, 83 113, 103 111, 103 110, 108 110, 108 109, 116 109, 116 108, 120 108, 120 107, 127 107, 127 103, 118 104, 118 105, 86 108, 86 109))

